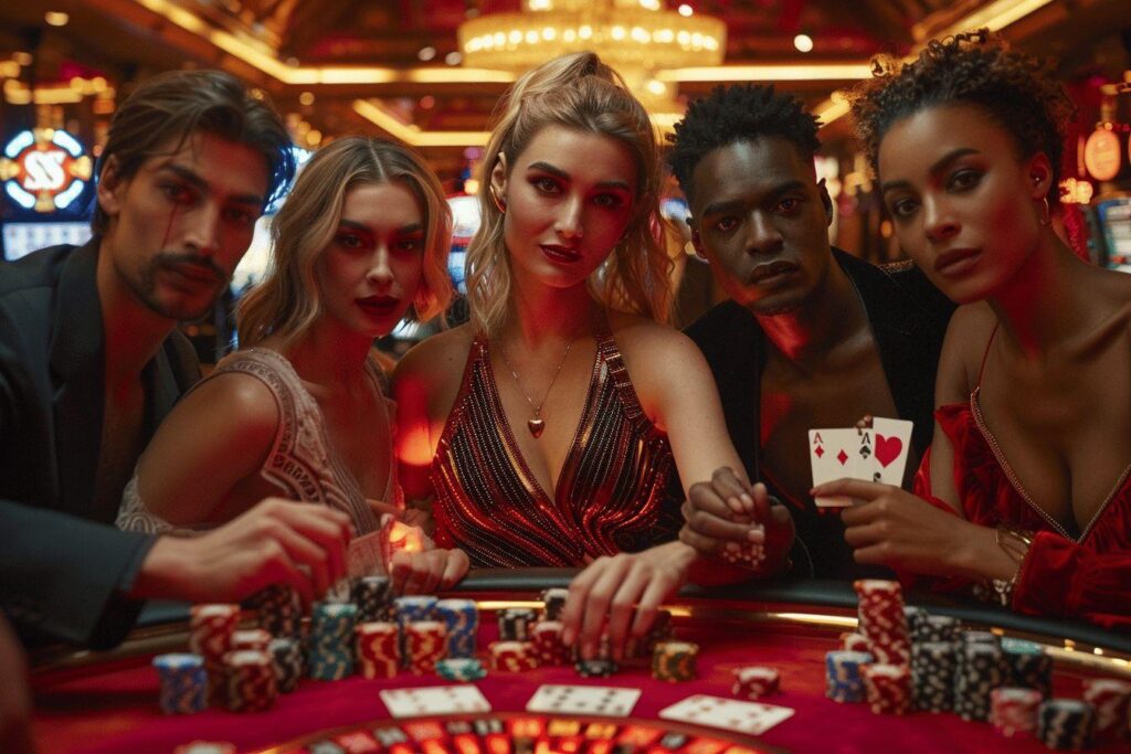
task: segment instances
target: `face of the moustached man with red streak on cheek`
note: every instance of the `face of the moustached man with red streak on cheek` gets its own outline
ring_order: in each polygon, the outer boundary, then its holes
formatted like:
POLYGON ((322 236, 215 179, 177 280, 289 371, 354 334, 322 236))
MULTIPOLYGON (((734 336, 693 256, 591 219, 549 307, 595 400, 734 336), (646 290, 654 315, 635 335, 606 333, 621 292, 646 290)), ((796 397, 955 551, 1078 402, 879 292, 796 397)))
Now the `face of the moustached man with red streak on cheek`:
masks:
POLYGON ((110 217, 100 291, 109 283, 162 318, 200 319, 251 245, 267 161, 249 145, 197 132, 128 179, 113 171, 107 163, 98 185, 110 217))

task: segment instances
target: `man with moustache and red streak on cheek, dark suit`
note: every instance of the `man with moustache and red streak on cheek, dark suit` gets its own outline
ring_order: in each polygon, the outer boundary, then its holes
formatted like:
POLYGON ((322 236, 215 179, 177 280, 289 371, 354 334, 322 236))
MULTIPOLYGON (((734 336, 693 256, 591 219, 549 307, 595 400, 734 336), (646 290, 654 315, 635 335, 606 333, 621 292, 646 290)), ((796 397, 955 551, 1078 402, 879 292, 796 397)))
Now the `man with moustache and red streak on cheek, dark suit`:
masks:
MULTIPOLYGON (((166 73, 114 114, 94 237, 0 266, 0 606, 25 641, 119 642, 141 600, 233 600, 344 573, 347 517, 268 500, 201 537, 113 529, 211 310, 293 176, 277 114, 218 71, 166 73)), ((206 473, 206 470, 202 470, 206 473)))

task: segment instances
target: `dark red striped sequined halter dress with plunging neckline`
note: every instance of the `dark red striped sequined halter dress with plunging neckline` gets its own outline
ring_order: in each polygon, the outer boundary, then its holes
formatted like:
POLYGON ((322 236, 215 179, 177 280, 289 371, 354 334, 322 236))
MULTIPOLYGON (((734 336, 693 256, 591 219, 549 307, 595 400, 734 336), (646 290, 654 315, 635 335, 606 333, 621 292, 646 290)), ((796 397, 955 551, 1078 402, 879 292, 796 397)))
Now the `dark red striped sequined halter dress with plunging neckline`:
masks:
POLYGON ((480 335, 432 460, 437 544, 463 548, 476 567, 581 566, 645 549, 682 522, 664 510, 673 463, 603 323, 581 419, 547 493, 515 441, 480 335))

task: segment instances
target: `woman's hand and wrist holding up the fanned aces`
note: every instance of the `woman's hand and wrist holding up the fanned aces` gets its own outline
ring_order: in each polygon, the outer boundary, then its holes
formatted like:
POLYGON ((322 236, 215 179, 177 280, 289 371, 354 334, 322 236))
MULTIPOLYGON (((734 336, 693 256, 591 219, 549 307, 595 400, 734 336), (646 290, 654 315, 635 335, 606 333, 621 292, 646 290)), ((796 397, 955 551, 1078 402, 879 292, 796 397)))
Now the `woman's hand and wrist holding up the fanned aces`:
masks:
POLYGON ((838 479, 818 485, 813 495, 845 495, 863 501, 840 513, 845 541, 857 563, 877 563, 934 575, 965 572, 972 548, 994 547, 994 530, 979 527, 895 485, 838 479), (988 539, 987 539, 988 537, 988 539))

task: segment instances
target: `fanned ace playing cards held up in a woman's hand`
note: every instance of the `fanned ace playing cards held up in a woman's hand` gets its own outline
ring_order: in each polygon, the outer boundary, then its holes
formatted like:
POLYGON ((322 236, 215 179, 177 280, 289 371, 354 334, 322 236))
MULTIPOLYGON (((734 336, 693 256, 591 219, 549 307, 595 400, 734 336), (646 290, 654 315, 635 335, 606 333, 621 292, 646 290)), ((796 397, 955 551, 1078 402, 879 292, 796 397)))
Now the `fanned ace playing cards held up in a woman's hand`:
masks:
MULTIPOLYGON (((912 422, 877 418, 869 430, 810 430, 809 463, 813 486, 836 479, 861 479, 899 486, 907 469, 912 422)), ((851 497, 818 497, 818 508, 847 508, 851 497)))

